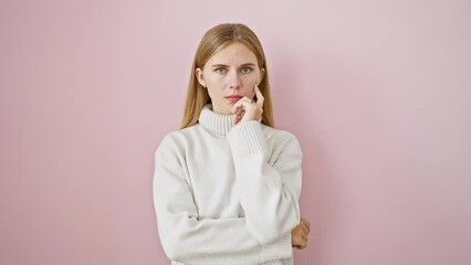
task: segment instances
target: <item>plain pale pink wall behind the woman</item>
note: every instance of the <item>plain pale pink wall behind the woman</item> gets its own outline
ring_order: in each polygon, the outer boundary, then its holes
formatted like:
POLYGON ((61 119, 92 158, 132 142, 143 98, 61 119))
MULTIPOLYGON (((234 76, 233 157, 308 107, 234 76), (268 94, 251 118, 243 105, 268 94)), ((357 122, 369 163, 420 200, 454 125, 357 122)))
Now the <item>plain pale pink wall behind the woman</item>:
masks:
POLYGON ((469 1, 0 2, 0 264, 169 264, 154 150, 243 22, 301 140, 296 264, 471 264, 469 1))

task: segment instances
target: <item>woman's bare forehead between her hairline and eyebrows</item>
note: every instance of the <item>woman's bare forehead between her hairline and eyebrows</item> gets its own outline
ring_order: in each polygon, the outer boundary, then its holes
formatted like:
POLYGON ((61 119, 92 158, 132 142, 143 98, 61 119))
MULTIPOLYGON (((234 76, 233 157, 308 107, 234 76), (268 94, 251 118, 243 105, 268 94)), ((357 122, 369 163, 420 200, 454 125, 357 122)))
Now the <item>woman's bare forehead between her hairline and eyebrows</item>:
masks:
POLYGON ((227 47, 217 52, 212 57, 208 60, 208 64, 257 64, 255 54, 250 51, 244 44, 234 42, 229 44, 227 47))

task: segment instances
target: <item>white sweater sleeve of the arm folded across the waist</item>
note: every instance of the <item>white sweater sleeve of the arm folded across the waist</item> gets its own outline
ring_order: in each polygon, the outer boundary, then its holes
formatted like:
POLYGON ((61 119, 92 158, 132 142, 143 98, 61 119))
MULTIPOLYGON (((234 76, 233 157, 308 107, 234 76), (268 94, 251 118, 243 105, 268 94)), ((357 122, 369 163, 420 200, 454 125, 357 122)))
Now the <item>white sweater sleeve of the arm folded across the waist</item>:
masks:
POLYGON ((260 244, 244 218, 199 219, 182 151, 166 137, 155 153, 154 205, 166 255, 188 265, 263 264, 292 256, 291 232, 260 244))

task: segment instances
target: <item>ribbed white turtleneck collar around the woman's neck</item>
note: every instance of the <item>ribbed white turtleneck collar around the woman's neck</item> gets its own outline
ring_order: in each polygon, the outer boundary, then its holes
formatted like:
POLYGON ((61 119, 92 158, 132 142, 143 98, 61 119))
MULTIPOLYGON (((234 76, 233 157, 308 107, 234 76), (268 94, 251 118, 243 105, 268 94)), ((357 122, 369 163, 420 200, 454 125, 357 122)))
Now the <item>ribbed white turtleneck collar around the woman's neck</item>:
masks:
POLYGON ((212 105, 207 104, 202 108, 198 121, 209 131, 219 136, 226 136, 233 127, 232 120, 231 114, 214 113, 212 112, 212 105))

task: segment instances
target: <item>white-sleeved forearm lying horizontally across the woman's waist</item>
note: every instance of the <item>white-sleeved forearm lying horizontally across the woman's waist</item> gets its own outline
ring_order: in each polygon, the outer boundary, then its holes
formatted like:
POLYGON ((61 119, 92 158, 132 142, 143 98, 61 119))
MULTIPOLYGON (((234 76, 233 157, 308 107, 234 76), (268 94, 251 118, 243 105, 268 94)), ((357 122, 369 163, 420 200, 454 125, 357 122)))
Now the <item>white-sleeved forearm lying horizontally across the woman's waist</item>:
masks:
POLYGON ((291 234, 266 245, 259 244, 245 229, 245 220, 196 220, 182 214, 158 221, 167 256, 184 264, 261 264, 292 255, 291 234))

